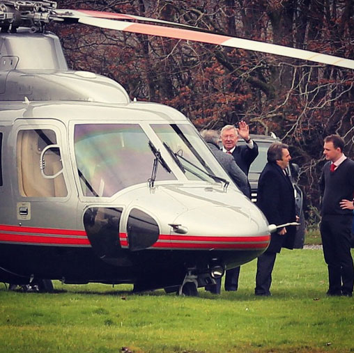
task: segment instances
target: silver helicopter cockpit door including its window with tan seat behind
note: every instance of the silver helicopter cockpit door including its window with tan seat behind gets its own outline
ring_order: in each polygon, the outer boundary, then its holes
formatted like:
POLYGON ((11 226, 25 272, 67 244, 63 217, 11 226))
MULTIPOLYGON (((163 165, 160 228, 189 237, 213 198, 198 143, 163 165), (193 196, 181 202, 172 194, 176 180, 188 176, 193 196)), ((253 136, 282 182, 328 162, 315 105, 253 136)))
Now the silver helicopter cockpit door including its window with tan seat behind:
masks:
POLYGON ((16 218, 36 228, 77 228, 66 127, 57 120, 17 120, 14 129, 16 218))

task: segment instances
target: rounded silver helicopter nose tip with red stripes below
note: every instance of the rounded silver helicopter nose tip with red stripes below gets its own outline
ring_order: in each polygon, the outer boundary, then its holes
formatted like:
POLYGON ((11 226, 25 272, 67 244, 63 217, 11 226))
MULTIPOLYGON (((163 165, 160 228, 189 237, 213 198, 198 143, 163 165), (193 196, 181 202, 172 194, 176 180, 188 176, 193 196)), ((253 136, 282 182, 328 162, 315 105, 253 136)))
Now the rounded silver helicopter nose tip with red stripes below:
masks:
POLYGON ((175 249, 263 251, 270 242, 268 224, 251 208, 199 207, 180 214, 170 226, 175 249))

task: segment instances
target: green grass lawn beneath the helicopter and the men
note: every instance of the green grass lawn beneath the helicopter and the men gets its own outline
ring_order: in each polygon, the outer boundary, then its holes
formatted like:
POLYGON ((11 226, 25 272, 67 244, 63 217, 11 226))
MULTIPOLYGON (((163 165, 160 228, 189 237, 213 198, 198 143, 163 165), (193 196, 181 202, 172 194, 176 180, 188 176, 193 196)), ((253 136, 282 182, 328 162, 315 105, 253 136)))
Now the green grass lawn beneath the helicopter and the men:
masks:
POLYGON ((0 286, 0 352, 354 352, 354 299, 327 297, 321 250, 283 250, 272 297, 254 297, 256 261, 238 292, 133 295, 130 285, 0 286))

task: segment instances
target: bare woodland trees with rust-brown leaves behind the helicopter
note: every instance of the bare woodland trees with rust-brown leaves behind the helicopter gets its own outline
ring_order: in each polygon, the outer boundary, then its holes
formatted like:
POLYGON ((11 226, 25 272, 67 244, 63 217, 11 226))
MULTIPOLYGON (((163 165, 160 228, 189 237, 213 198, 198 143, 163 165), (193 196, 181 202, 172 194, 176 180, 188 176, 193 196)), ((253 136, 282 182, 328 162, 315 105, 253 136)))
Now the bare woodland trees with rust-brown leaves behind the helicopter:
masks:
MULTIPOLYGON (((157 17, 252 40, 353 58, 352 0, 58 1, 157 17)), ((354 157, 354 73, 291 58, 213 45, 53 26, 75 70, 119 81, 131 97, 169 104, 199 127, 247 120, 291 145, 300 182, 318 206, 323 137, 338 133, 354 157)))

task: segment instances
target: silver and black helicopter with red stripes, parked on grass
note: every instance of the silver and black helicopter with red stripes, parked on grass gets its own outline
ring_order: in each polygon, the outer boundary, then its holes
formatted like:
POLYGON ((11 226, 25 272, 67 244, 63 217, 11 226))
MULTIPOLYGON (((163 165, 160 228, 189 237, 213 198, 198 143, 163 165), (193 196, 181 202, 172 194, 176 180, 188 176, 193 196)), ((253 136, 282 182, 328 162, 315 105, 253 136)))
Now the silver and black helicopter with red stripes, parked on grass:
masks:
MULTIPOLYGON (((197 295, 261 255, 284 225, 268 224, 190 120, 130 100, 112 79, 69 70, 49 22, 254 49, 158 19, 0 1, 0 281, 44 290, 51 280, 132 283, 134 292, 197 295)), ((354 68, 263 44, 265 52, 354 68)))

